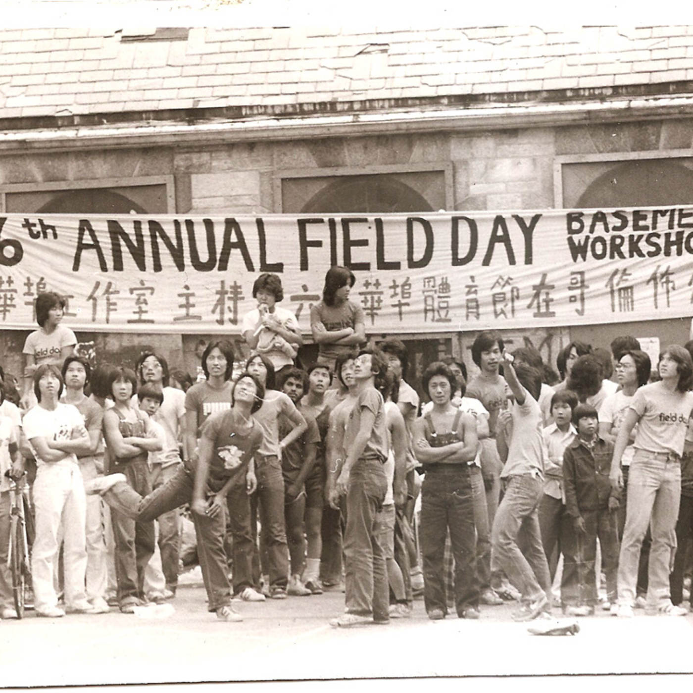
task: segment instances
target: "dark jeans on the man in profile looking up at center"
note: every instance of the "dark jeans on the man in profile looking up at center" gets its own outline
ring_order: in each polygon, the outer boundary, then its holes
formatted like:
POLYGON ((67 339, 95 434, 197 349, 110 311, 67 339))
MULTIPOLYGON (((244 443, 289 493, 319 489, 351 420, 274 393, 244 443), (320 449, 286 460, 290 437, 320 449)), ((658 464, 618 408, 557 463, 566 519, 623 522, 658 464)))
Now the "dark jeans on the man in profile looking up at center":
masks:
POLYGON ((389 621, 385 550, 380 544, 380 511, 387 491, 383 464, 359 459, 349 473, 344 532, 347 612, 389 621))

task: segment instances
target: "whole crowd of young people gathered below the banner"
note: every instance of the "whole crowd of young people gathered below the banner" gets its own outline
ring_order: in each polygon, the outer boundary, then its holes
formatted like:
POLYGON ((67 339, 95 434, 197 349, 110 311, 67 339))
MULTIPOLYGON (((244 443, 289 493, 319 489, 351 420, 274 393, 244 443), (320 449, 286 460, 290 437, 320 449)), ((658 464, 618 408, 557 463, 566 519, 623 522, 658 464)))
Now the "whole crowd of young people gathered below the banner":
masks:
POLYGON ((261 274, 249 358, 234 372, 234 344, 203 342, 194 384, 152 351, 91 364, 64 299, 40 294, 21 381, 0 369, 0 616, 17 617, 10 477, 30 484, 40 617, 175 599, 183 508, 224 621, 327 590, 344 590, 341 628, 409 617, 421 596, 431 620, 505 602, 517 621, 688 613, 693 342, 651 363, 634 337, 574 341, 556 374, 485 331, 475 376, 446 356, 416 383, 403 342, 367 346, 355 281, 328 270, 301 367, 281 279, 261 274))

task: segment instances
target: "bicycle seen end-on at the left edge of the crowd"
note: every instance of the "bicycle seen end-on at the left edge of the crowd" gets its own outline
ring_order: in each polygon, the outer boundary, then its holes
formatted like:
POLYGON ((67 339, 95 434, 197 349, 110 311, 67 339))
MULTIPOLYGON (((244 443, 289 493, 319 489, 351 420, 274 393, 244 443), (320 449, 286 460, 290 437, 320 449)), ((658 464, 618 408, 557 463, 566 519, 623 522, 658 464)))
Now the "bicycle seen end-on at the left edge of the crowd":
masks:
POLYGON ((10 544, 8 547, 8 569, 12 577, 12 597, 15 602, 17 618, 24 616, 26 590, 31 585, 29 566, 29 544, 27 535, 26 497, 24 495, 23 473, 19 479, 12 478, 10 470, 5 476, 10 480, 10 544))

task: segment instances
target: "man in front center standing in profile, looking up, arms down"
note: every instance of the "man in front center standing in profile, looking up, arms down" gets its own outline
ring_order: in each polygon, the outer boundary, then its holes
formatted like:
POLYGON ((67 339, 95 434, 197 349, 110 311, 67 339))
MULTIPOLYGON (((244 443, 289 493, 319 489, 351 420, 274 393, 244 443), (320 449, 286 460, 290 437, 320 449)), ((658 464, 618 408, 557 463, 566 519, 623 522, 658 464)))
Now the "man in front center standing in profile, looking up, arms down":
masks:
POLYGON ((344 533, 346 611, 330 624, 349 627, 389 623, 389 593, 385 552, 380 545, 380 511, 387 491, 387 423, 385 402, 376 389, 385 376, 385 356, 372 349, 360 351, 354 362, 356 403, 344 432, 346 459, 335 491, 346 495, 344 533))

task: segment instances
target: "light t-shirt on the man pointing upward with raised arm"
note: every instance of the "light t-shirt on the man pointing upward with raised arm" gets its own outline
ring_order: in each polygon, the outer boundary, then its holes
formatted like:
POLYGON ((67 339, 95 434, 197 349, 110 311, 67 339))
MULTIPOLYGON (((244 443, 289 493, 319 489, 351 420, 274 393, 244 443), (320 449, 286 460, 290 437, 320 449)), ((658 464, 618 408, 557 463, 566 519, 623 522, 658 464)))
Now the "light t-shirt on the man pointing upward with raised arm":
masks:
POLYGON ((512 435, 508 445, 508 459, 500 473, 501 477, 533 473, 543 475, 544 437, 541 425, 541 409, 529 392, 525 390, 522 404, 510 405, 513 419, 512 435))

